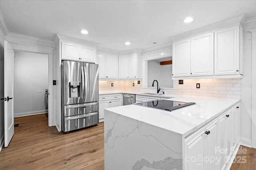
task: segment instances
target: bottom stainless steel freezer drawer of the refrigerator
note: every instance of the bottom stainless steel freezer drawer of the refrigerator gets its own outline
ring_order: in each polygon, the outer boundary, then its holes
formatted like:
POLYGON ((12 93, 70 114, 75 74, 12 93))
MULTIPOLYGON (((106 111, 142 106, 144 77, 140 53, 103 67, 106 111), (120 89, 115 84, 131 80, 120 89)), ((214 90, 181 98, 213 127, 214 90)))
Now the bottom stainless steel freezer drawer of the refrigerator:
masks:
POLYGON ((64 117, 63 132, 73 131, 99 123, 99 112, 64 117))

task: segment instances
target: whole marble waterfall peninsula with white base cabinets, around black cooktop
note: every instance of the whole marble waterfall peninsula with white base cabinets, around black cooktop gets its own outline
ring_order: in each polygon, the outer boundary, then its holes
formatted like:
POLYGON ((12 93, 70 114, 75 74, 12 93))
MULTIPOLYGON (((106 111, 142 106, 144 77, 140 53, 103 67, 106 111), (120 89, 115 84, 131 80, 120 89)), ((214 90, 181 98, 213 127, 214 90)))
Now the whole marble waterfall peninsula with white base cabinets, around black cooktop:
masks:
MULTIPOLYGON (((226 131, 231 130, 232 125, 238 125, 230 120, 240 120, 238 118, 240 114, 235 110, 240 99, 177 95, 173 97, 166 100, 196 102, 196 105, 171 112, 134 104, 105 109, 106 170, 193 170, 208 169, 210 166, 216 166, 217 169, 228 166, 232 150, 224 155, 216 153, 215 162, 198 163, 191 160, 193 156, 200 154, 201 157, 213 156, 212 152, 216 147, 222 149, 220 139, 223 135, 219 132, 224 131, 226 136, 228 135, 226 131), (228 119, 229 115, 231 119, 228 119), (222 117, 227 119, 224 121, 224 129, 220 129, 223 125, 222 117), (211 130, 209 135, 205 134, 207 128, 211 130), (218 135, 222 136, 217 137, 218 135), (206 149, 206 146, 210 145, 213 147, 206 149)), ((240 133, 237 131, 233 132, 237 135, 232 135, 230 138, 224 136, 223 149, 238 143, 240 133)))

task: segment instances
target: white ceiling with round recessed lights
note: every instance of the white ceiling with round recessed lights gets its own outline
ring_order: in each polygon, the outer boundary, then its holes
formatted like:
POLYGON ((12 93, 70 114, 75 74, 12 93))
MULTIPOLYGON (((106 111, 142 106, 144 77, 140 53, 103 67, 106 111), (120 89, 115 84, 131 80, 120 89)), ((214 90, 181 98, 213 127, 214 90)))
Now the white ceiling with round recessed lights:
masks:
POLYGON ((12 33, 49 40, 61 34, 114 50, 145 49, 242 14, 256 17, 255 0, 0 0, 0 9, 12 33), (188 16, 194 21, 184 23, 188 16))

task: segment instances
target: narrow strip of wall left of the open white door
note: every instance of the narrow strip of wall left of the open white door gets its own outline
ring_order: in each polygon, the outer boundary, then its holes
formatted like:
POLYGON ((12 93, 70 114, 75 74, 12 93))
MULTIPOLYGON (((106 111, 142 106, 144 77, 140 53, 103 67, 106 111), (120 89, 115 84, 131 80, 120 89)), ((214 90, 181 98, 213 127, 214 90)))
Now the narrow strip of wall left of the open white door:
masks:
MULTIPOLYGON (((5 35, 0 27, 0 98, 4 98, 4 40, 5 35)), ((0 139, 4 134, 4 100, 0 100, 0 139)))

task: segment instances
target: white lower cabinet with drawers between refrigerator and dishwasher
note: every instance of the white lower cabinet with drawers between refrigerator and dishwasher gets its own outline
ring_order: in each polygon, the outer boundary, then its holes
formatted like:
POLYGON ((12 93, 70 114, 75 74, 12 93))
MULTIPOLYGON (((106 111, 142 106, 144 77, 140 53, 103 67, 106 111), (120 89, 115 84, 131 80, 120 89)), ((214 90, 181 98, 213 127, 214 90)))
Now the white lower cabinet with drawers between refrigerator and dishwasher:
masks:
POLYGON ((99 119, 104 121, 104 109, 122 106, 122 94, 99 95, 99 119))

